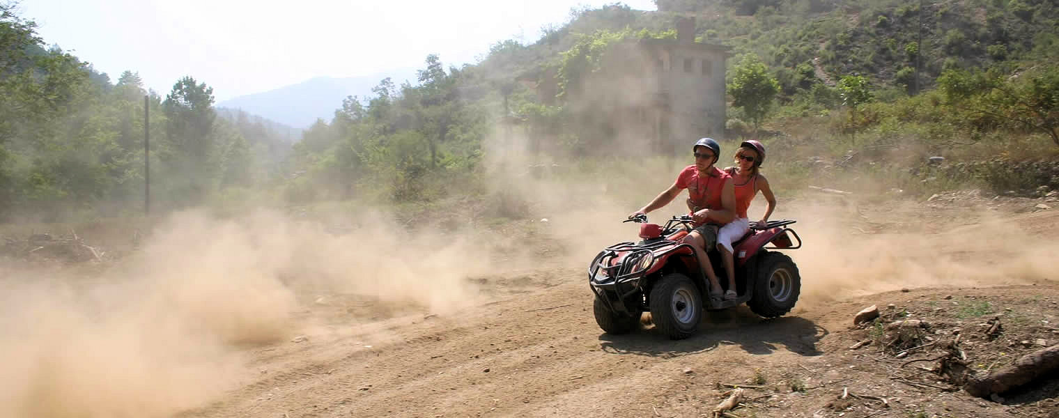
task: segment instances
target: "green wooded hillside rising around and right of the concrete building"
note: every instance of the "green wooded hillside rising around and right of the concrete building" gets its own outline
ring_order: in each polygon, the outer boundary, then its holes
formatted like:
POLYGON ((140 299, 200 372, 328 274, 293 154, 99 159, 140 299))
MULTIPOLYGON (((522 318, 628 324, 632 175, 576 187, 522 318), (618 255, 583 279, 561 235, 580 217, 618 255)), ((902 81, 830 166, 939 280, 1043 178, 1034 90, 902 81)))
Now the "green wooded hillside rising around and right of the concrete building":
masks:
MULTIPOLYGON (((570 21, 545 28, 537 41, 498 42, 475 66, 445 70, 428 57, 420 85, 384 80, 375 96, 347 101, 331 124, 307 132, 295 155, 310 176, 300 186, 319 192, 342 178, 351 179, 342 194, 329 196, 355 196, 359 187, 429 200, 447 193, 453 176, 470 176, 484 153, 516 147, 528 151, 527 164, 607 155, 613 147, 590 145, 612 137, 593 123, 591 109, 568 106, 564 89, 600 71, 603 57, 622 42, 675 36, 678 16, 696 18, 699 41, 733 48, 725 140, 758 135, 784 151, 779 163, 834 160, 843 169, 868 170, 884 187, 920 193, 965 182, 1004 190, 1059 186, 1051 171, 1011 172, 1006 161, 953 172, 945 184, 925 183, 919 169, 931 156, 957 162, 1057 155, 1059 11, 1052 2, 658 5, 660 12, 621 4, 572 11, 570 21), (550 79, 555 88, 541 88, 550 79), (487 139, 500 149, 483 147, 487 139)), ((788 170, 795 184, 820 176, 804 164, 788 170)))

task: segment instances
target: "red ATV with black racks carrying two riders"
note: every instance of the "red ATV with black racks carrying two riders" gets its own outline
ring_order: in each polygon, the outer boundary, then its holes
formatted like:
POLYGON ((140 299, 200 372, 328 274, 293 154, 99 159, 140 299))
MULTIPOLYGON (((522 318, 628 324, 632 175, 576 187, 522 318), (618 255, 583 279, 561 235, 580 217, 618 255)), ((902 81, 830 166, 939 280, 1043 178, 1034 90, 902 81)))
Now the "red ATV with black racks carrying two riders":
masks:
MULTIPOLYGON (((674 340, 685 339, 695 333, 703 309, 746 303, 754 313, 775 317, 790 312, 797 302, 802 287, 797 266, 786 254, 772 251, 802 248, 802 238, 787 228, 794 220, 754 224, 733 243, 738 297, 731 301, 707 297, 710 280, 699 270, 699 258, 692 246, 680 242, 692 231, 689 216, 674 216, 665 226, 647 223, 645 215, 626 222, 630 221, 642 223, 642 240, 610 246, 589 265, 593 312, 599 328, 608 333, 633 330, 641 314, 649 311, 662 332, 674 340)), ((707 255, 720 283, 726 285, 720 254, 710 251, 707 255)))

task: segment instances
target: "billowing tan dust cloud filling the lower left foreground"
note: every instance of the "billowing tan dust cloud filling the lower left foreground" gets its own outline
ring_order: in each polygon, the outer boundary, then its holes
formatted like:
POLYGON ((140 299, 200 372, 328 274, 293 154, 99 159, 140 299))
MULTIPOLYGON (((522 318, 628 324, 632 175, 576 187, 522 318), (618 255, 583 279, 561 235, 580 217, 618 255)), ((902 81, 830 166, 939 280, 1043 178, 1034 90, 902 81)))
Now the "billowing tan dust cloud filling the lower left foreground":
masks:
MULTIPOLYGON (((360 214, 329 231, 271 211, 187 212, 102 274, 0 265, 0 416, 162 417, 234 387, 318 294, 449 312, 477 299, 477 241, 360 214)), ((351 317, 354 323, 357 319, 351 317)))

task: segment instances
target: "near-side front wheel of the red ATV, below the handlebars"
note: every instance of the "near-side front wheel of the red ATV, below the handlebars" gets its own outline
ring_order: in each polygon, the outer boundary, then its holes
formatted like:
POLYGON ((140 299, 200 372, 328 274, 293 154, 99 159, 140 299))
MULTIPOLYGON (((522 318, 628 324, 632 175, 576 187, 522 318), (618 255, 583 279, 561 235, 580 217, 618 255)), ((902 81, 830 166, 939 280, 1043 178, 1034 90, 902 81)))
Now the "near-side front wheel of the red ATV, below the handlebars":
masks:
POLYGON ((651 321, 671 340, 692 337, 702 319, 702 296, 687 276, 670 273, 654 285, 650 296, 651 321))

